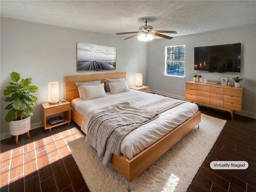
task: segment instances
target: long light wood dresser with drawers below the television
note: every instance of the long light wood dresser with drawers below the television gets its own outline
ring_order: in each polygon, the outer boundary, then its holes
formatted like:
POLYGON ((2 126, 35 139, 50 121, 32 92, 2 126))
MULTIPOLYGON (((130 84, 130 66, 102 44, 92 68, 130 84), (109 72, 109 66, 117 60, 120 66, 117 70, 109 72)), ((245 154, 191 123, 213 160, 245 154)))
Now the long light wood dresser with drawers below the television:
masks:
POLYGON ((190 102, 226 110, 234 120, 234 111, 242 111, 243 88, 202 82, 186 82, 186 96, 190 102))

